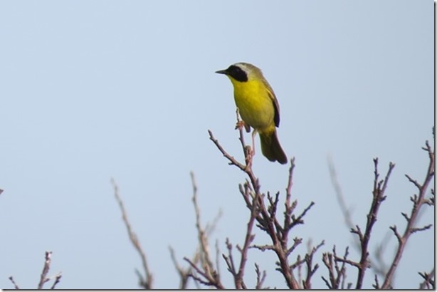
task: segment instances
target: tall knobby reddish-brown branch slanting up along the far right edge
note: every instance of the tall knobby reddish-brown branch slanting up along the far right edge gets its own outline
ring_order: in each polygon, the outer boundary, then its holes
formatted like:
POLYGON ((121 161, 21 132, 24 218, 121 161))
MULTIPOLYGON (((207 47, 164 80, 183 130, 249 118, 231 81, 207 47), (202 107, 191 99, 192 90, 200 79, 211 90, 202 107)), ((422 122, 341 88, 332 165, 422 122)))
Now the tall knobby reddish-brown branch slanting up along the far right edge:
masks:
POLYGON ((434 163, 435 163, 434 150, 431 149, 431 146, 429 145, 428 141, 425 142, 425 146, 426 147, 423 147, 422 149, 428 153, 429 164, 428 164, 428 169, 426 170, 425 179, 423 179, 423 183, 419 184, 418 182, 416 182, 416 180, 406 175, 406 178, 409 179, 409 181, 412 184, 414 184, 414 186, 418 189, 418 195, 415 195, 411 199, 411 201, 413 202, 413 207, 411 209, 409 216, 406 216, 408 217, 408 219, 407 219, 407 224, 404 233, 402 235, 399 234, 399 232, 396 230, 396 226, 390 227, 390 229, 394 231, 394 234, 398 239, 398 248, 396 249, 396 254, 394 256, 393 261, 391 262, 389 271, 386 273, 386 277, 384 278, 384 283, 382 283, 381 285, 382 289, 386 289, 391 286, 394 273, 396 271, 397 266, 399 265, 399 261, 401 260, 402 254, 404 253, 406 242, 408 241, 409 236, 411 234, 414 234, 416 231, 423 231, 431 227, 431 225, 427 225, 422 228, 414 227, 421 207, 424 204, 427 204, 427 200, 425 199, 426 190, 428 189, 428 186, 434 177, 434 163))

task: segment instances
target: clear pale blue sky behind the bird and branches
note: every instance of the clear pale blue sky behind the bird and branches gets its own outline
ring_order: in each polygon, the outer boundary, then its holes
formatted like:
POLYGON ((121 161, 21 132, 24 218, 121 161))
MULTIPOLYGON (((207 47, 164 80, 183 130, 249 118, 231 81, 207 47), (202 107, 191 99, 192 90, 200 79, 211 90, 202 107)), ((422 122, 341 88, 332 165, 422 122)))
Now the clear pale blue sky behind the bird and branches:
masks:
MULTIPOLYGON (((274 88, 278 136, 296 159, 293 196, 301 208, 316 203, 293 234, 304 239, 298 252, 325 239, 316 256, 321 263, 334 244, 343 250, 353 242, 328 157, 361 226, 372 159, 379 157, 381 173, 396 163, 371 241, 377 246, 389 226, 404 227, 401 212, 416 191, 404 174, 421 181, 426 171, 433 15, 433 1, 424 0, 1 1, 0 287, 12 288, 12 275, 21 288, 36 288, 49 250, 51 273, 63 273, 58 288, 137 288, 141 262, 111 177, 155 288, 179 285, 168 246, 181 263, 196 248, 190 171, 204 221, 223 212, 213 244, 219 239, 222 251, 226 237, 241 244, 248 212, 238 183, 245 177, 207 133, 242 158, 231 83, 214 73, 239 61, 262 68, 274 88)), ((287 166, 258 153, 253 168, 263 192, 284 194, 287 166)), ((433 221, 428 209, 421 224, 433 221)), ((396 288, 417 287, 417 272, 433 267, 433 247, 433 230, 411 237, 396 288)), ((386 261, 393 251, 391 236, 386 261)), ((285 286, 272 254, 249 257, 268 270, 266 285, 285 286)), ((248 283, 255 278, 251 265, 248 283)), ((326 275, 321 266, 314 285, 324 288, 326 275)), ((368 271, 367 287, 372 279, 368 271)))

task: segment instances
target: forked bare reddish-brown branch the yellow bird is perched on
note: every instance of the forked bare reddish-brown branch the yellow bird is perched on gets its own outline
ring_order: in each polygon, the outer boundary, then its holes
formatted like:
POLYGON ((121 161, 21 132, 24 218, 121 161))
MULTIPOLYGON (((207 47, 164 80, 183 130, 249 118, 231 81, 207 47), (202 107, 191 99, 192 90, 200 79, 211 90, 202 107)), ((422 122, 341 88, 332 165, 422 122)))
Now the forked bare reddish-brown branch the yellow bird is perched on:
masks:
MULTIPOLYGON (((283 273, 285 281, 288 285, 288 288, 300 288, 298 281, 296 281, 295 276, 293 276, 293 265, 290 266, 288 262, 288 256, 290 256, 290 252, 293 251, 295 245, 291 248, 288 247, 288 234, 293 226, 298 224, 303 224, 303 217, 309 209, 314 205, 311 202, 310 206, 305 208, 298 217, 295 217, 293 214, 295 207, 298 202, 291 202, 291 188, 293 185, 293 170, 295 167, 294 158, 290 160, 290 171, 288 176, 288 184, 286 187, 286 197, 285 197, 285 212, 284 212, 284 221, 283 224, 280 224, 278 221, 278 217, 276 211, 278 209, 279 202, 279 193, 275 194, 275 198, 271 197, 270 194, 267 194, 268 206, 265 204, 265 195, 260 192, 260 184, 258 178, 253 173, 252 170, 252 162, 253 162, 253 152, 251 151, 251 147, 246 146, 243 136, 243 125, 238 118, 237 113, 237 127, 239 131, 239 140, 241 142, 241 147, 244 153, 245 163, 238 162, 233 156, 229 155, 226 150, 220 145, 219 141, 216 140, 211 130, 209 132, 209 139, 214 142, 214 145, 219 149, 223 157, 226 157, 229 165, 234 165, 238 167, 239 170, 245 172, 248 176, 248 181, 239 186, 240 192, 243 196, 244 201, 246 202, 246 207, 250 210, 252 215, 251 219, 253 222, 256 220, 256 226, 260 228, 262 231, 265 231, 271 239, 271 244, 266 245, 254 245, 250 246, 249 244, 253 240, 253 237, 248 232, 246 233, 245 244, 242 249, 239 249, 241 252, 248 250, 249 247, 255 247, 260 250, 270 249, 275 251, 275 254, 278 256, 278 268, 277 270, 283 273), (256 211, 256 214, 254 213, 256 211), (245 249, 246 247, 246 249, 245 249)), ((253 222, 249 221, 248 229, 251 229, 253 226, 253 222)), ((295 244, 298 244, 298 241, 295 241, 295 244)), ((238 247, 238 246, 237 246, 238 247)), ((243 254, 242 254, 243 255, 243 254)), ((233 260, 231 260, 231 254, 228 256, 223 256, 228 265, 228 269, 233 273, 233 275, 238 275, 238 272, 235 273, 235 268, 232 268, 233 260)), ((243 258, 243 268, 239 268, 239 271, 244 270, 244 263, 246 260, 243 258)), ((239 276, 238 276, 239 277, 239 276)), ((237 278, 238 278, 237 277, 237 278)), ((237 281, 236 287, 240 286, 240 280, 237 281)), ((244 288, 241 286, 241 288, 244 288)))

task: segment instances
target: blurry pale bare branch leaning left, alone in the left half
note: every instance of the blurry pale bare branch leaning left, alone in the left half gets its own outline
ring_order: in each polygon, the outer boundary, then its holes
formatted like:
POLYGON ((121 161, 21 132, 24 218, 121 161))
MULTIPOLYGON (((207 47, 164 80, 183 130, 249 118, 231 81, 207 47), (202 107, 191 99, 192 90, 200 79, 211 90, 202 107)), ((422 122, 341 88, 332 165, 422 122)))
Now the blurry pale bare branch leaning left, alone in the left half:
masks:
POLYGON ((142 261, 142 267, 144 268, 144 277, 141 273, 139 273, 139 271, 137 271, 137 275, 139 277, 139 286, 142 286, 144 289, 152 289, 153 276, 152 273, 150 273, 149 265, 147 264, 146 254, 142 250, 141 244, 139 244, 137 234, 135 234, 135 232, 132 230, 130 221, 127 219, 125 204, 123 204, 118 186, 113 178, 111 178, 111 184, 114 188, 115 199, 117 200, 120 211, 122 212, 122 219, 127 229, 127 235, 129 236, 130 242, 134 246, 135 250, 138 252, 142 261))

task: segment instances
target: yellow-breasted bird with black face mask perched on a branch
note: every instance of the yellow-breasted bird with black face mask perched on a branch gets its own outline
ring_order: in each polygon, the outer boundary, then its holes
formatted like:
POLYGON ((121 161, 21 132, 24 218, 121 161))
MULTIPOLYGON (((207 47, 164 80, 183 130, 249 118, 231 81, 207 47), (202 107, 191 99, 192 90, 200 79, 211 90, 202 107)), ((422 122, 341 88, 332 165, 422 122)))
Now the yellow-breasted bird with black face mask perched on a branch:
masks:
POLYGON ((271 162, 287 163, 287 155, 276 134, 280 120, 278 100, 260 68, 240 62, 216 73, 224 74, 231 80, 238 113, 246 130, 253 127, 252 139, 256 132, 259 133, 263 155, 271 162))

